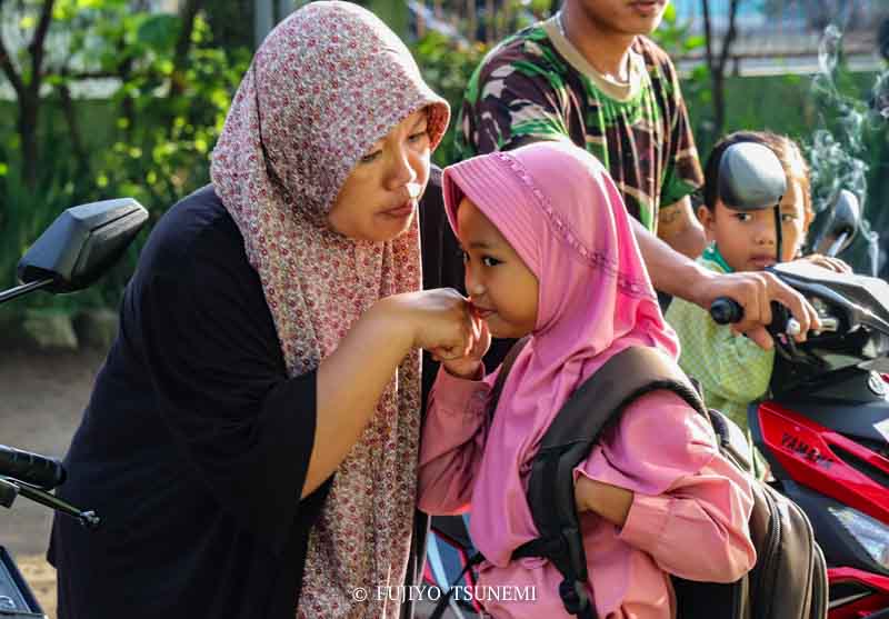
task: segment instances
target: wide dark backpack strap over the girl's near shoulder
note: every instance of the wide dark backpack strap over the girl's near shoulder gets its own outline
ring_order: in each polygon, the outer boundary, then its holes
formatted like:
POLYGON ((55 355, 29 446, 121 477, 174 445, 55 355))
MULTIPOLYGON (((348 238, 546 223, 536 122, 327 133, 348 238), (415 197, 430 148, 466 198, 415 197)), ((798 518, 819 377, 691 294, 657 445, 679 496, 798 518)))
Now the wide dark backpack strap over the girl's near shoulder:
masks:
POLYGON ((679 395, 700 415, 707 410, 672 359, 650 347, 631 347, 609 359, 559 410, 531 463, 528 503, 540 537, 512 555, 545 557, 562 573, 566 610, 595 618, 587 591, 587 557, 575 505, 573 469, 586 459, 607 426, 636 399, 656 390, 679 395))

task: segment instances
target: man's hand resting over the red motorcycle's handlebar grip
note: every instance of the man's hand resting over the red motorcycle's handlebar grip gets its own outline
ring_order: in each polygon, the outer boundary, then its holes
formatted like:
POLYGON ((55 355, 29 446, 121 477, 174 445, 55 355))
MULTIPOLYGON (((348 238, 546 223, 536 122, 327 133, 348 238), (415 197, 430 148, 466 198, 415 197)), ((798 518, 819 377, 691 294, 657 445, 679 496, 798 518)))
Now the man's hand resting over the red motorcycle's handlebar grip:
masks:
POLYGON ((722 274, 710 271, 709 276, 701 274, 687 298, 706 310, 719 297, 735 299, 743 308, 743 320, 732 325, 732 330, 747 335, 766 350, 775 343, 766 330, 771 322, 771 301, 787 307, 799 322, 797 341, 805 341, 810 329, 818 330, 821 327, 818 313, 806 298, 772 273, 745 271, 722 274))

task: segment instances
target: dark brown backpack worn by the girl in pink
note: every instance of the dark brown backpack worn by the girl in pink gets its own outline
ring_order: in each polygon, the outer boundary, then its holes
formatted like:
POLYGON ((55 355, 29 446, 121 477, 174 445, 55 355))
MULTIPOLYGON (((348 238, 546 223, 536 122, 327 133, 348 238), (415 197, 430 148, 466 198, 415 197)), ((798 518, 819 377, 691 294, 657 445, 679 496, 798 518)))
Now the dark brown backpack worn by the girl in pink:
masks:
MULTIPOLYGON (((492 388, 491 410, 526 343, 527 338, 517 342, 503 361, 492 388)), ((827 567, 809 519, 793 501, 752 476, 740 428, 719 411, 707 410, 676 362, 649 347, 632 347, 612 357, 575 391, 545 432, 528 481, 528 503, 540 537, 517 548, 513 559, 548 559, 565 578, 559 595, 568 613, 580 619, 597 618, 591 599, 596 593, 587 587, 572 471, 627 406, 659 389, 673 391, 708 419, 720 452, 747 475, 753 490, 750 536, 757 550, 756 566, 732 583, 671 577, 679 619, 826 618, 827 567)), ((477 555, 470 566, 481 559, 477 555)))

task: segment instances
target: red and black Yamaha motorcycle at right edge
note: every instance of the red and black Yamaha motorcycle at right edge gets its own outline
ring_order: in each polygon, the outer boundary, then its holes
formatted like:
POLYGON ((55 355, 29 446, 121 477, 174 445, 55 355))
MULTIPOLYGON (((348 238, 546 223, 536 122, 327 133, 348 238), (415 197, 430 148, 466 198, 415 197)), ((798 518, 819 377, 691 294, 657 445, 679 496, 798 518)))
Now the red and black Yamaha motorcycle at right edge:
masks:
MULTIPOLYGON (((855 203, 841 194, 827 254, 851 240, 855 203)), ((887 618, 889 284, 805 263, 772 272, 808 298, 821 330, 803 343, 776 339, 770 397, 748 411, 753 442, 773 486, 812 523, 828 563, 828 617, 887 618)), ((771 331, 788 322, 779 310, 771 331)))

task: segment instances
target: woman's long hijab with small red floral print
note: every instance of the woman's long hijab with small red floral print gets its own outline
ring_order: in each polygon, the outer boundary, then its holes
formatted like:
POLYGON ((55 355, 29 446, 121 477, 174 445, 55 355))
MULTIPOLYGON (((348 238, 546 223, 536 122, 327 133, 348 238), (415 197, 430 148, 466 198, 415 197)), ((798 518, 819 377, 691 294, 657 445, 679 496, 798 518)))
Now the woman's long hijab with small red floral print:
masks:
MULTIPOLYGON (((312 2, 290 16, 238 89, 211 177, 262 281, 290 376, 317 369, 378 299, 421 287, 416 219, 374 243, 331 231, 327 213, 367 149, 422 108, 434 148, 448 104, 398 37, 350 2, 312 2)), ((353 591, 403 582, 419 420, 413 352, 333 478, 309 537, 300 617, 398 615, 398 603, 356 601, 353 591)))

